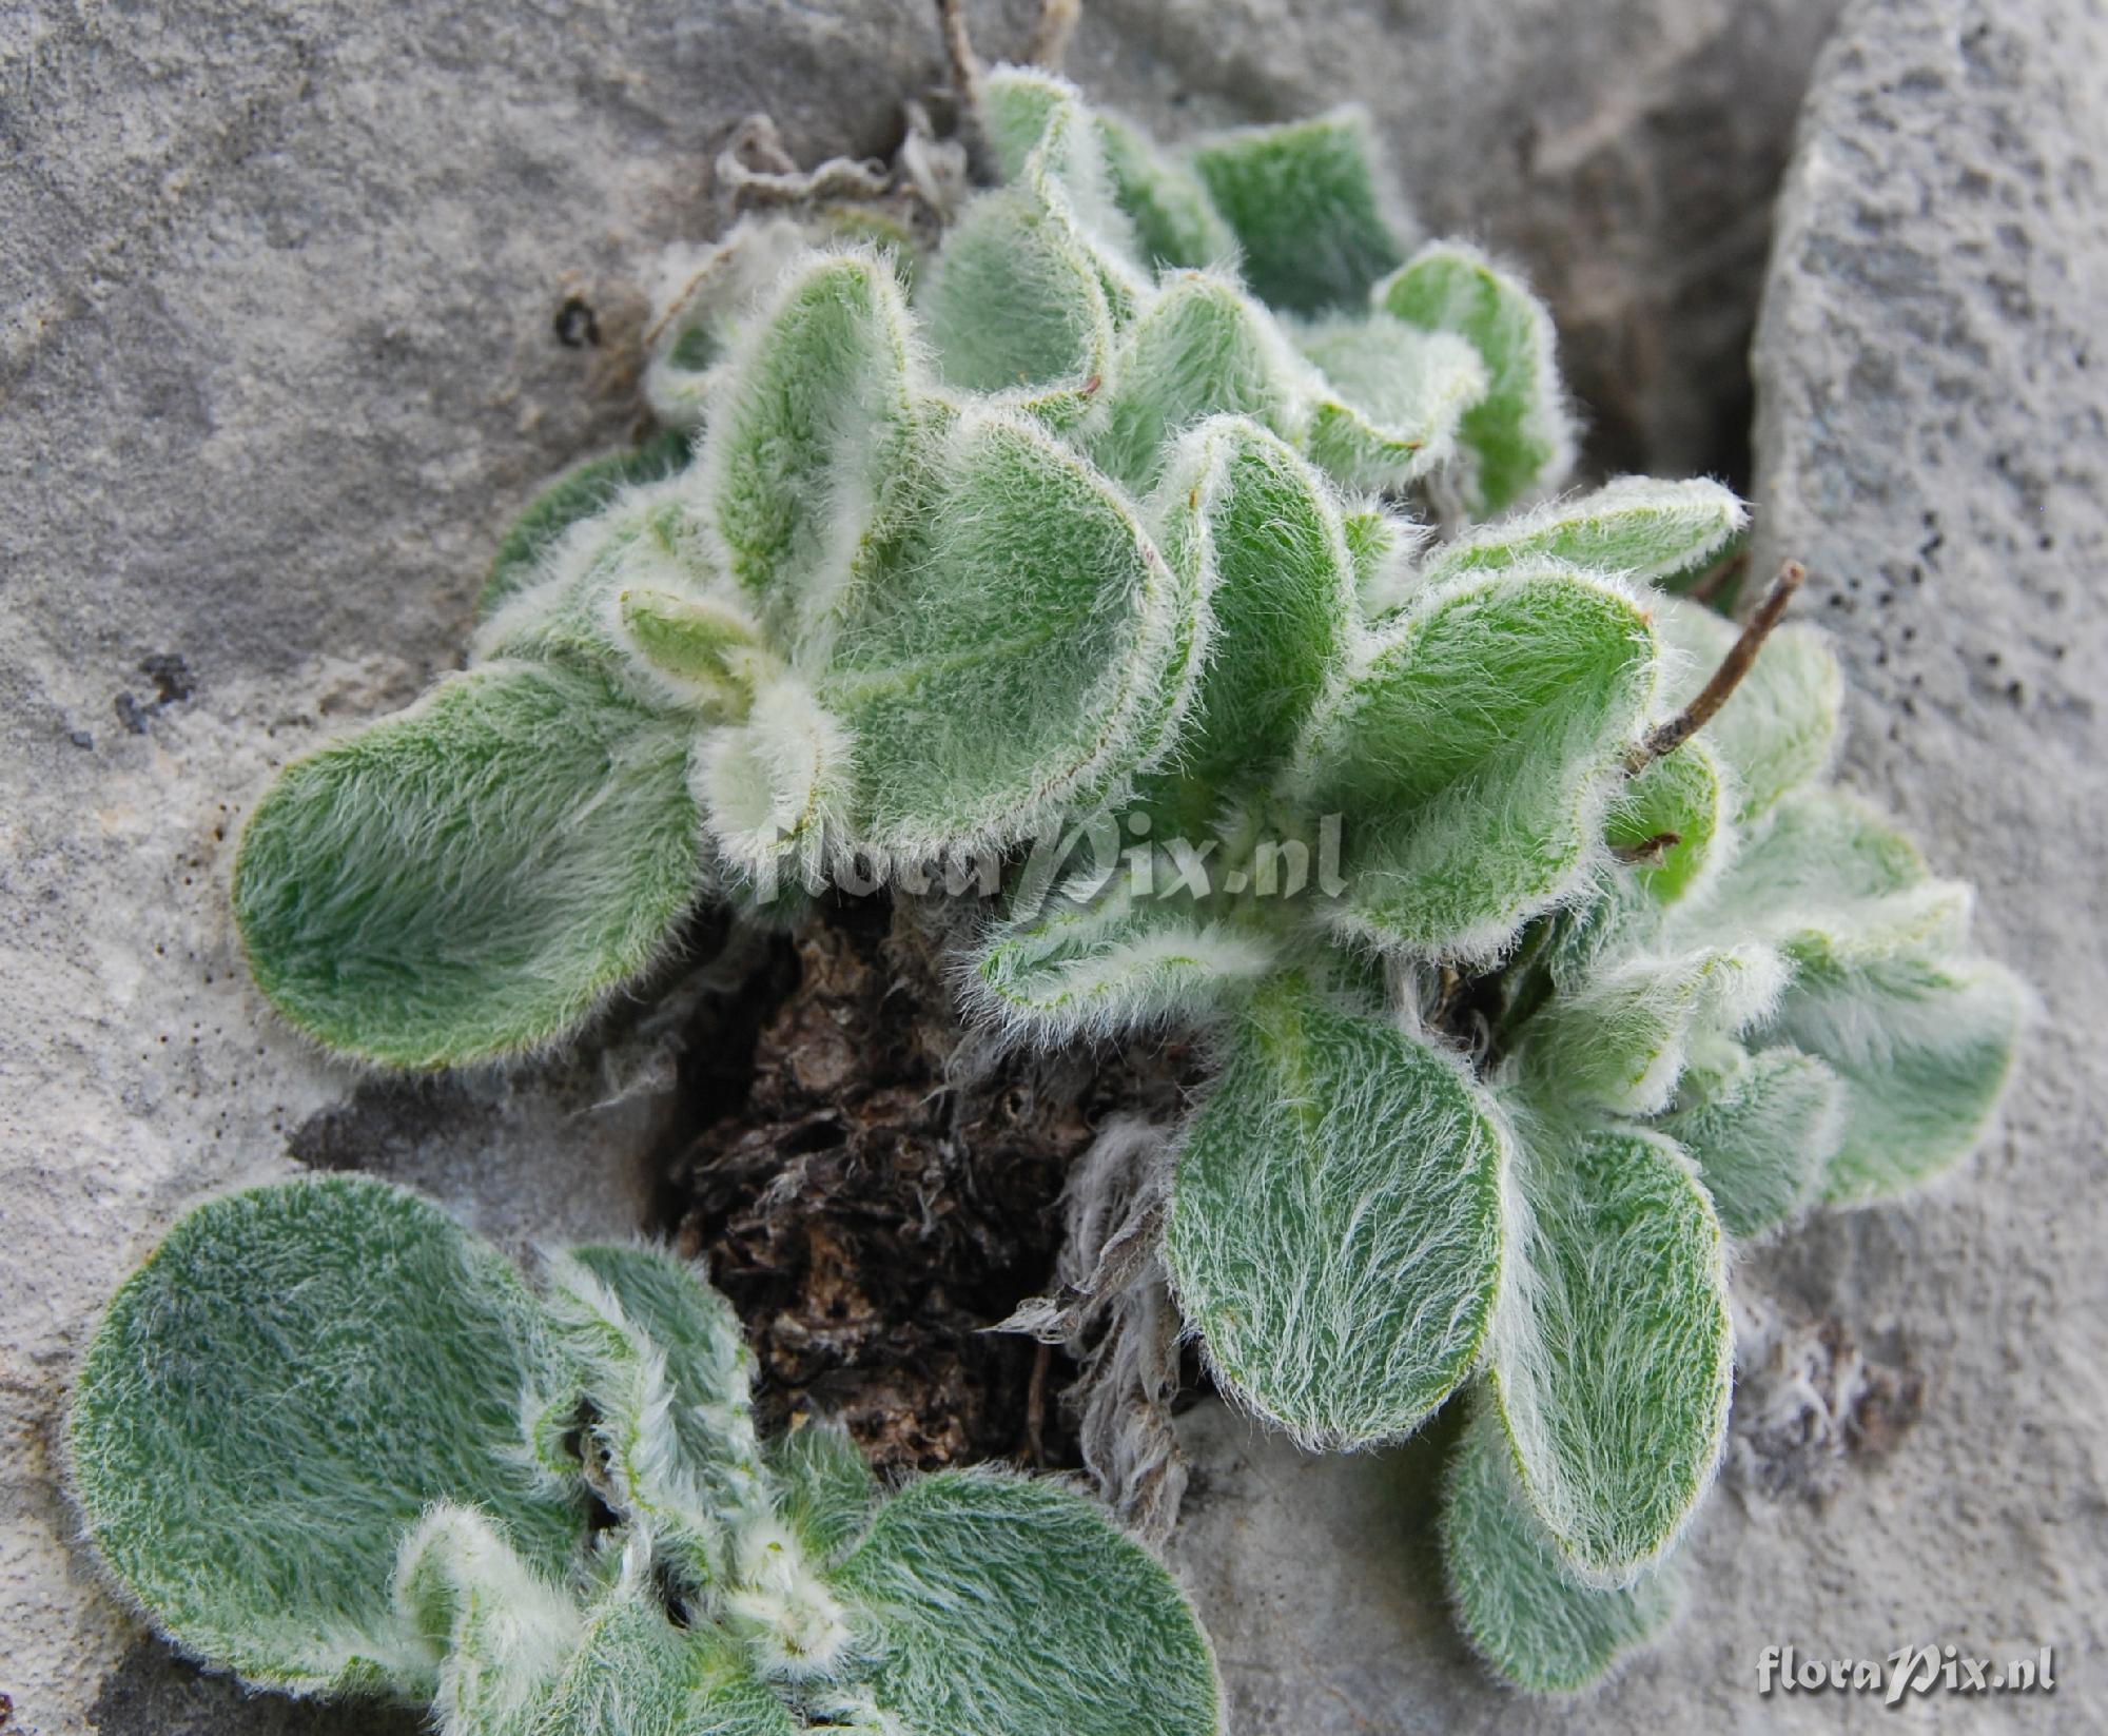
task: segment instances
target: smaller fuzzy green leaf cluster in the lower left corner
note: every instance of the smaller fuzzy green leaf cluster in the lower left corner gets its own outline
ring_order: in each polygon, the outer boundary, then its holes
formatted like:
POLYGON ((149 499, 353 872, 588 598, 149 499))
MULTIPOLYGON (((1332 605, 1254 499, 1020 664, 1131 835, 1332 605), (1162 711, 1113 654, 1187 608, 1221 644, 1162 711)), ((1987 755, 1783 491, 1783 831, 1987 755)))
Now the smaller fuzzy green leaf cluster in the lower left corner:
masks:
POLYGON ((1212 1736, 1208 1643, 1088 1498, 881 1490, 761 1441, 702 1275, 573 1247, 540 1289, 331 1176, 192 1209, 110 1302, 65 1428, 86 1534, 183 1652, 426 1702, 445 1736, 1212 1736))

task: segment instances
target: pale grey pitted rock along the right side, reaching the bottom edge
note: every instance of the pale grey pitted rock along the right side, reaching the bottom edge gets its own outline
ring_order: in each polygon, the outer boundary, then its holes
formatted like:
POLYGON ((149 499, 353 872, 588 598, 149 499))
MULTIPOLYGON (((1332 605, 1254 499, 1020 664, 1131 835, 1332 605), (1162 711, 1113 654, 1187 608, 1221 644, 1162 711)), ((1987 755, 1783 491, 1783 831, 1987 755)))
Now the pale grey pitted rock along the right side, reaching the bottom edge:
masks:
MULTIPOLYGON (((1756 346, 1756 563, 1807 560, 1847 782, 1975 879, 2041 1028, 1973 1161, 1741 1268, 1689 1610, 1530 1730, 2108 1728, 2104 99, 2087 0, 1857 0, 1819 63, 1756 346), (1756 1692, 1767 1645, 1920 1643, 2051 1645, 2055 1694, 1756 1692)), ((1174 1555, 1242 1736, 1518 1728, 1444 1622, 1417 1452, 1309 1460, 1214 1405, 1183 1437, 1174 1555)))

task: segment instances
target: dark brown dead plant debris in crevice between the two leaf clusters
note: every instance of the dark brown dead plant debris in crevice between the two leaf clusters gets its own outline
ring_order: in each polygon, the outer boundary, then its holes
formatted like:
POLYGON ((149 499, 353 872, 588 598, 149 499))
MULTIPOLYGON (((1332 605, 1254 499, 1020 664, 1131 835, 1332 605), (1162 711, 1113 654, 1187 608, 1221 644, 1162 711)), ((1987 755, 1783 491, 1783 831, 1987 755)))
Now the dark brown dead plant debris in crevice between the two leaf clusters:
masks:
POLYGON ((1172 1121, 1197 1053, 997 1053, 959 1028, 944 929, 833 904, 761 973, 750 1039, 706 1009, 666 1222, 746 1319, 769 1426, 839 1416, 881 1468, 1073 1466, 1073 1367, 987 1327, 1046 1289, 1077 1155, 1113 1114, 1172 1121))

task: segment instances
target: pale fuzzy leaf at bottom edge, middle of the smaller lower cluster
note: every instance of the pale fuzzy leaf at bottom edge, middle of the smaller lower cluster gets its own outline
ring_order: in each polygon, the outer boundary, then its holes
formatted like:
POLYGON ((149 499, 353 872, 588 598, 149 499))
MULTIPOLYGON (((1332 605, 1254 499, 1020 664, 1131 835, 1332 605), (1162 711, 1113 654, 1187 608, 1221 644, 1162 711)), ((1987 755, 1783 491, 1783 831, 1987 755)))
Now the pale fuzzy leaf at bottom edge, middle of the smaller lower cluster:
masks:
POLYGON ((656 1597, 618 1593, 586 1629, 533 1736, 797 1736, 738 1645, 677 1629, 656 1597))

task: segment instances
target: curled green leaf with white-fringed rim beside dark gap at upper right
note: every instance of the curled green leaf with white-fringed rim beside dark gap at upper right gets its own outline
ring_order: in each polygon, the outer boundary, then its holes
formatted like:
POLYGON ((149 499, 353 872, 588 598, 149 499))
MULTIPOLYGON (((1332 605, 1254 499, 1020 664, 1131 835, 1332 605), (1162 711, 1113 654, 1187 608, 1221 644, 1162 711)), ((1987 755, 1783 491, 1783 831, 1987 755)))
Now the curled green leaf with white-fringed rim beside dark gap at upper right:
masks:
POLYGON ((1556 487, 1573 461, 1573 430, 1551 360, 1551 316, 1528 287, 1476 249, 1433 242, 1377 287, 1374 303, 1421 331, 1457 333, 1486 364, 1486 396, 1459 428, 1471 455, 1473 516, 1556 487))

